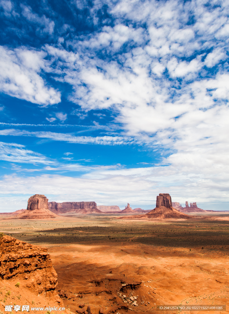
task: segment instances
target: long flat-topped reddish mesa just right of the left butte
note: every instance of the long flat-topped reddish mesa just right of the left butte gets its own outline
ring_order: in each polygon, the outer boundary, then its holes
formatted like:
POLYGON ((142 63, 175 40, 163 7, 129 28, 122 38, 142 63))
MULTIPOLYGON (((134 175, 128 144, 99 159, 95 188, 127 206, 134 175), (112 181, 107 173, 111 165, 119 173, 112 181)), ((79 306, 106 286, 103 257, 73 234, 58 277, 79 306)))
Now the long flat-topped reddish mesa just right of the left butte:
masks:
POLYGON ((95 202, 49 202, 48 208, 51 212, 56 214, 90 214, 90 213, 102 213, 101 210, 97 208, 95 202))

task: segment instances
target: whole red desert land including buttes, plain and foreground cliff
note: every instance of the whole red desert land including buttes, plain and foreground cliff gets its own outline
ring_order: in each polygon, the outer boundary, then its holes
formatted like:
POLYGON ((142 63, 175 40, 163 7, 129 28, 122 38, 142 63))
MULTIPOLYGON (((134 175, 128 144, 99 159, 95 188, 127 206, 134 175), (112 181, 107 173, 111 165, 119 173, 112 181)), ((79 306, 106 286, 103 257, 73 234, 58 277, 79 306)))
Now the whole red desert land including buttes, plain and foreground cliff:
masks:
POLYGON ((19 214, 1 215, 2 311, 10 304, 86 314, 229 305, 227 214, 183 214, 167 193, 145 214, 129 204, 122 215, 115 206, 96 212, 91 202, 95 212, 84 206, 84 214, 54 214, 48 205, 36 194, 19 214))

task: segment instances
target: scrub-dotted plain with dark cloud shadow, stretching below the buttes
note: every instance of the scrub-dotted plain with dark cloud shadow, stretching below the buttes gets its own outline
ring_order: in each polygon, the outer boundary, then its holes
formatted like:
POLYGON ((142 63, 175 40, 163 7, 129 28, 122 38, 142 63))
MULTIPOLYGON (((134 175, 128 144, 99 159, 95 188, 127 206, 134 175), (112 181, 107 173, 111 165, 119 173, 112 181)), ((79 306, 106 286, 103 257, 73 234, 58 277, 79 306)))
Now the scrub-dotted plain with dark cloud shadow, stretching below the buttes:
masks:
MULTIPOLYGON (((120 215, 117 215, 118 217, 120 215)), ((75 218, 73 217, 73 219, 75 218)), ((134 241, 136 244, 168 248, 183 247, 188 250, 203 247, 204 251, 202 250, 202 252, 204 253, 212 251, 212 246, 215 246, 214 250, 217 252, 225 252, 229 246, 229 221, 190 219, 188 221, 148 222, 125 221, 117 218, 109 216, 77 217, 78 220, 74 221, 75 226, 64 222, 63 225, 58 225, 59 228, 53 224, 53 227, 55 226, 53 229, 47 229, 44 222, 35 224, 36 228, 41 228, 40 230, 22 230, 22 233, 17 236, 22 236, 26 242, 43 246, 46 244, 63 246, 65 243, 93 244, 107 241, 110 245, 119 245, 120 241, 134 241), (81 218, 87 219, 90 223, 85 224, 81 218), (37 236, 38 233, 39 236, 37 236)))

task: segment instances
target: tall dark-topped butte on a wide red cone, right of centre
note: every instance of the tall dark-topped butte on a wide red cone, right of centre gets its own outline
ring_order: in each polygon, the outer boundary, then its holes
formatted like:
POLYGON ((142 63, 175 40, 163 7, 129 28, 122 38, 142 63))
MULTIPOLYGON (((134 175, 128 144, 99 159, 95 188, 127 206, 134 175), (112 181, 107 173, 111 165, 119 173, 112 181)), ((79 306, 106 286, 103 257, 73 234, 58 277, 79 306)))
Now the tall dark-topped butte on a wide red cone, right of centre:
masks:
POLYGON ((143 218, 150 219, 189 219, 186 214, 180 213, 177 209, 172 207, 172 199, 168 193, 160 193, 157 196, 156 207, 149 213, 145 214, 143 218))

